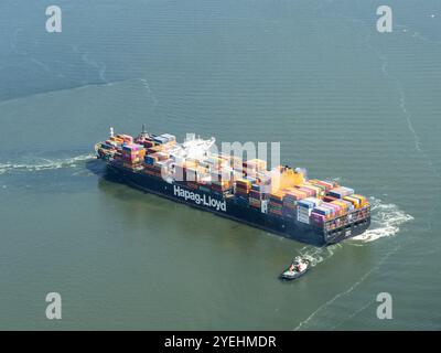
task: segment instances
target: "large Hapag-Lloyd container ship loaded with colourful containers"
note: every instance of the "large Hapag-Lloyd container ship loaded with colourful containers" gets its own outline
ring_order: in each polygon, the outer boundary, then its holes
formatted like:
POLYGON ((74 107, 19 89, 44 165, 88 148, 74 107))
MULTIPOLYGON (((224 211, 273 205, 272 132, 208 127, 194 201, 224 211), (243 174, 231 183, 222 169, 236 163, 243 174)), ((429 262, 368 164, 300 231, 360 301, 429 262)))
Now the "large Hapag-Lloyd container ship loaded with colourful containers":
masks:
POLYGON ((262 159, 215 153, 215 139, 170 133, 115 135, 95 146, 106 176, 175 202, 318 246, 357 236, 370 225, 365 196, 301 168, 268 169, 262 159))

